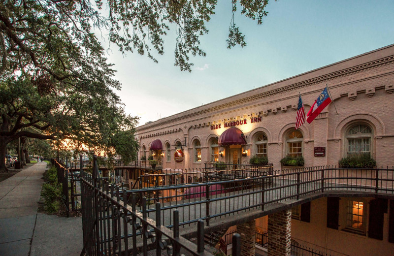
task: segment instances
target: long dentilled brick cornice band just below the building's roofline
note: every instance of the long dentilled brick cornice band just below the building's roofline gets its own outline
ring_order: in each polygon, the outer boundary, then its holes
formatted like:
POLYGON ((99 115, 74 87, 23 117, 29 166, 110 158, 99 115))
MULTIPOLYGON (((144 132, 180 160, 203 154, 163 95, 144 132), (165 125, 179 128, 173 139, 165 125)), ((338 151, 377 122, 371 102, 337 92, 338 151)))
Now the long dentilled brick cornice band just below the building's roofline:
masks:
MULTIPOLYGON (((312 79, 304 80, 304 81, 299 82, 299 83, 295 83, 295 84, 291 84, 291 85, 284 86, 284 87, 281 87, 281 88, 277 88, 277 89, 270 90, 270 91, 267 91, 267 92, 263 92, 263 93, 260 93, 260 94, 257 94, 257 95, 253 95, 253 96, 245 97, 245 98, 242 98, 242 99, 234 100, 234 101, 231 101, 231 102, 228 102, 228 103, 225 103, 225 104, 221 104, 221 105, 218 105, 218 106, 215 106, 215 107, 210 107, 210 108, 207 108, 207 109, 196 111, 196 112, 193 112, 193 113, 190 113, 190 114, 187 114, 187 115, 183 115, 183 116, 180 116, 180 117, 177 117, 177 118, 170 118, 170 117, 168 117, 169 119, 166 120, 166 121, 163 121, 163 122, 161 122, 159 124, 155 124, 156 122, 153 122, 153 123, 149 124, 148 127, 144 127, 144 128, 141 128, 141 129, 150 128, 151 126, 155 126, 155 125, 165 125, 165 124, 168 124, 168 123, 177 122, 177 121, 180 121, 180 120, 183 120, 183 119, 187 119, 187 118, 190 118, 190 117, 202 115, 202 114, 205 114, 205 113, 208 113, 208 112, 215 112, 215 111, 219 111, 219 110, 222 110, 222 109, 227 109, 227 108, 230 108, 230 107, 233 107, 233 106, 245 104, 245 103, 248 103, 248 102, 251 102, 251 101, 256 101, 258 99, 263 99, 263 98, 270 97, 270 96, 273 96, 273 95, 282 94, 282 93, 286 93, 286 92, 290 92, 290 91, 294 91, 294 90, 299 90, 300 88, 313 86, 313 85, 319 84, 319 83, 325 83, 325 82, 328 82, 329 80, 332 80, 332 79, 335 79, 335 78, 338 78, 338 77, 352 75, 352 74, 355 74, 355 73, 359 73, 359 72, 363 72, 363 71, 366 71, 366 70, 370 70, 372 68, 380 67, 382 65, 384 66, 386 64, 387 65, 394 64, 394 55, 393 56, 389 56, 389 57, 385 57, 385 58, 382 58, 382 59, 379 59, 379 60, 371 61, 371 62, 368 62, 368 63, 360 64, 360 65, 357 65, 357 66, 345 68, 345 69, 342 69, 342 70, 339 70, 339 71, 335 71, 335 72, 332 72, 332 73, 329 73, 329 74, 326 74, 326 75, 322 75, 322 76, 315 77, 315 78, 312 78, 312 79)), ((393 87, 386 88, 386 91, 388 93, 392 93, 393 90, 394 90, 393 87)), ((351 97, 349 97, 349 98, 351 98, 351 97)), ((276 110, 272 110, 272 111, 275 112, 274 114, 276 114, 276 110)), ((266 116, 267 114, 268 113, 266 113, 264 111, 263 115, 266 116)), ((137 130, 138 130, 138 128, 137 128, 137 130)))

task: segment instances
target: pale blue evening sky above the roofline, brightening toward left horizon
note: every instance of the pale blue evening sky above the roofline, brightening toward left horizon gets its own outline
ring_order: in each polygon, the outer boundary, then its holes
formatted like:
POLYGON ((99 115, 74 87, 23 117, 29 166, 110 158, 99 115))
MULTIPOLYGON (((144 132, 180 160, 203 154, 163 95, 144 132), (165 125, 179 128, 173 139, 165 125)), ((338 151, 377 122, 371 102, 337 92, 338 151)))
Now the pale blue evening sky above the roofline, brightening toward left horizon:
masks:
POLYGON ((111 45, 106 54, 125 112, 144 125, 394 43, 394 0, 270 0, 266 11, 262 25, 238 11, 247 46, 228 49, 231 1, 218 1, 200 37, 206 57, 191 58, 191 73, 174 66, 174 30, 164 37, 164 55, 152 52, 158 64, 111 45))

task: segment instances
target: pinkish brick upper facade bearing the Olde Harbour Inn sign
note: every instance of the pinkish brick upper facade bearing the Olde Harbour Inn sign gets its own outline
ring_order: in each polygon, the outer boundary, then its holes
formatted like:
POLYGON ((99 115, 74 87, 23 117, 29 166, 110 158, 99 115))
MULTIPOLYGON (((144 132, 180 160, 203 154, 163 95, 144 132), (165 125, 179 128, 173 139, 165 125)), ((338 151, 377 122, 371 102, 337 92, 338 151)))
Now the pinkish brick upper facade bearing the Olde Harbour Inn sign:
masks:
POLYGON ((359 123, 372 129, 370 153, 377 164, 393 165, 394 45, 142 125, 136 128, 136 134, 145 152, 140 150, 138 158, 148 157, 150 143, 160 139, 164 168, 203 168, 204 162, 211 160, 211 141, 228 129, 225 123, 246 120, 247 124, 236 127, 245 134, 247 144, 220 148, 224 155, 219 160, 230 162, 232 154, 238 154, 240 162, 249 161, 256 154, 256 135, 264 132, 268 160, 274 169, 281 169, 280 160, 287 155, 287 136, 296 123, 299 93, 308 112, 326 84, 338 114, 330 103, 311 124, 299 128, 305 166, 338 165, 347 155, 345 133, 359 123), (253 118, 261 121, 252 123, 253 118), (200 161, 194 156, 197 140, 200 161), (177 142, 182 143, 185 155, 181 163, 176 163, 173 156, 177 142), (169 161, 166 145, 170 146, 169 161), (326 156, 314 157, 314 147, 326 147, 326 156), (240 155, 241 150, 247 152, 246 157, 240 155))

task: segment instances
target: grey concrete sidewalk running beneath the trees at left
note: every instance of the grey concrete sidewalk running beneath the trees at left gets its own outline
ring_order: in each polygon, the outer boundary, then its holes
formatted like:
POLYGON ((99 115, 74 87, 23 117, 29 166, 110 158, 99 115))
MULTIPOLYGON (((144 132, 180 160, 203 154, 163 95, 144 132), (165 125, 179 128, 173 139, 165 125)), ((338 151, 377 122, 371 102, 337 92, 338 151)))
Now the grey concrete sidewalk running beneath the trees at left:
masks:
POLYGON ((81 218, 37 213, 45 162, 0 182, 0 256, 79 255, 81 218))

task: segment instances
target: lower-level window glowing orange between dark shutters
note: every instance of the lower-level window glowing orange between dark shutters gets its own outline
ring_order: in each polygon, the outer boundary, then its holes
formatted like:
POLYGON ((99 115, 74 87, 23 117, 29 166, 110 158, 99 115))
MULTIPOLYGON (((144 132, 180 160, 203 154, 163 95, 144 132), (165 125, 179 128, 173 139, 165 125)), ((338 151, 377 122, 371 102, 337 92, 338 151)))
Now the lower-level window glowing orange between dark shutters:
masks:
POLYGON ((365 233, 364 202, 348 201, 346 228, 365 233))

